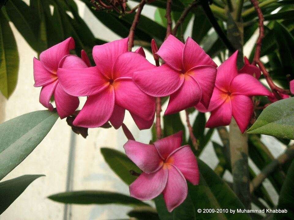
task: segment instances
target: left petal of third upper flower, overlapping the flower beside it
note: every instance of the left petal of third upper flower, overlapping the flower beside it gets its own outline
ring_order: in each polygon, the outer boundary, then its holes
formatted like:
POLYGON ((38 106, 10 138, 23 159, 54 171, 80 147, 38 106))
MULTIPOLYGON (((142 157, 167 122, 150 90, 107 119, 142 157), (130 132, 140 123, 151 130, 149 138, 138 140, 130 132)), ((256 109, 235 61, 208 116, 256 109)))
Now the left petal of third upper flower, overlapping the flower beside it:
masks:
POLYGON ((182 86, 184 77, 167 64, 163 64, 153 69, 134 72, 133 80, 146 94, 164 97, 177 91, 182 86))

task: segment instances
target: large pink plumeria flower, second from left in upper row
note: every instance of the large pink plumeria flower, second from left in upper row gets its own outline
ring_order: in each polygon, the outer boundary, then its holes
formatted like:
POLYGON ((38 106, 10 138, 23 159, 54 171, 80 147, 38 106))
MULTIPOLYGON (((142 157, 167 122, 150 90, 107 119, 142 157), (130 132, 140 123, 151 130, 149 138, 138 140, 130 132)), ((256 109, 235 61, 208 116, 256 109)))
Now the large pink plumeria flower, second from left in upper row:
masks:
MULTIPOLYGON (((141 53, 128 52, 128 38, 94 46, 96 66, 58 69, 62 88, 73 96, 88 96, 74 120, 79 127, 100 127, 108 120, 118 129, 128 110, 139 129, 154 121, 155 98, 142 92, 133 82, 134 71, 152 69, 141 53), (70 76, 70 77, 69 77, 70 76)), ((137 51, 138 52, 138 51, 137 51)))

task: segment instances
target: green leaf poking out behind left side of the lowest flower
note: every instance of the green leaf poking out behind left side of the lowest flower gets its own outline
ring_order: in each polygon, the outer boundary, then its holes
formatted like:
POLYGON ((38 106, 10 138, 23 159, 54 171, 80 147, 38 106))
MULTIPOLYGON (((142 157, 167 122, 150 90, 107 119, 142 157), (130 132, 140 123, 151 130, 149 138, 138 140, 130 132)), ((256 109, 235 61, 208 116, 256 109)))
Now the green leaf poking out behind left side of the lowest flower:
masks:
POLYGON ((130 170, 141 173, 141 170, 124 153, 111 148, 100 149, 104 160, 109 167, 121 178, 123 182, 130 185, 136 177, 130 174, 130 170))

